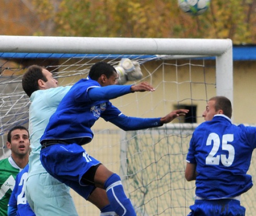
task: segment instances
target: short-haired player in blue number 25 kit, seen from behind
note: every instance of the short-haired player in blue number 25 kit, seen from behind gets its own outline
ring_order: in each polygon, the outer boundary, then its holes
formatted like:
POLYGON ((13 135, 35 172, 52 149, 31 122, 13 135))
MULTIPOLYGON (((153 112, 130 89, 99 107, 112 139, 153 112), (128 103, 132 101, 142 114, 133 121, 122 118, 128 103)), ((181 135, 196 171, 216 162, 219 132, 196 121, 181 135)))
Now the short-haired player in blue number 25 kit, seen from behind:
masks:
MULTIPOLYGON (((195 129, 190 141, 187 168, 195 168, 196 200, 189 215, 245 215, 240 195, 252 187, 252 177, 247 171, 256 148, 256 128, 232 124, 223 108, 226 100, 220 96, 210 99, 205 112, 212 109, 215 115, 195 129), (216 106, 219 104, 223 106, 216 106), (216 206, 222 209, 218 213, 216 206)), ((194 180, 188 173, 185 177, 194 180)))

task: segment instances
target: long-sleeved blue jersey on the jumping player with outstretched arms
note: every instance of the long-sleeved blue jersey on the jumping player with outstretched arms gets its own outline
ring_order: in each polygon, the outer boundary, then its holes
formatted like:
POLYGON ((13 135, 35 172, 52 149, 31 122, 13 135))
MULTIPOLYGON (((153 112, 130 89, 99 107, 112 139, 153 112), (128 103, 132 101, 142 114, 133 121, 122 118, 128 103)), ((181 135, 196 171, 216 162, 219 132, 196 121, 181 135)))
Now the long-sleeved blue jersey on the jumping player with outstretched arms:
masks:
POLYGON ((160 118, 127 117, 109 101, 129 93, 131 85, 101 87, 97 81, 89 78, 78 81, 50 118, 41 143, 48 139, 63 139, 68 143, 86 144, 93 138, 91 127, 100 117, 123 130, 161 126, 160 118))

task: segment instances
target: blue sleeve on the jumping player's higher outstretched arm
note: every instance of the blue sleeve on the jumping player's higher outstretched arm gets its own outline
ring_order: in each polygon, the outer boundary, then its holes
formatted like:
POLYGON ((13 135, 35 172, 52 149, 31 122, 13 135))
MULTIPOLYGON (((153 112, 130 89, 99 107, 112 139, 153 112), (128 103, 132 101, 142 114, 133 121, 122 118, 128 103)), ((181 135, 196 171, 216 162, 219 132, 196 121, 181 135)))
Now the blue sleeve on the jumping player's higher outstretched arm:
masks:
POLYGON ((88 96, 91 100, 110 100, 131 92, 132 85, 108 85, 88 89, 88 96))

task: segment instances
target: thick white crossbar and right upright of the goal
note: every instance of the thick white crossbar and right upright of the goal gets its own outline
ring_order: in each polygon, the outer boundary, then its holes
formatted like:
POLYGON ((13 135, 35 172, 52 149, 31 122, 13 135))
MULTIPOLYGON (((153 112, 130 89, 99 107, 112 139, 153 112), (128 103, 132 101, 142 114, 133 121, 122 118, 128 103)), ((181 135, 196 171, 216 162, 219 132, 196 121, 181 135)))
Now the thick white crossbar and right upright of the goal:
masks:
POLYGON ((216 57, 216 94, 233 102, 232 41, 122 37, 0 36, 0 52, 173 55, 216 57))

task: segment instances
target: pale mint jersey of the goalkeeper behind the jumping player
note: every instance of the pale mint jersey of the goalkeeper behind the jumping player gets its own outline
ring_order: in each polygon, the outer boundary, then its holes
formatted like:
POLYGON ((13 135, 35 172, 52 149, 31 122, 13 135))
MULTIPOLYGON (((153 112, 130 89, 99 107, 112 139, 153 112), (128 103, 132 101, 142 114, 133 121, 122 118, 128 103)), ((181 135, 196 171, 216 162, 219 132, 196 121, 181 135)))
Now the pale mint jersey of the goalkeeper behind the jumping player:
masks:
POLYGON ((40 161, 40 151, 42 147, 40 138, 43 135, 50 117, 70 88, 71 86, 60 86, 48 90, 38 90, 33 92, 30 97, 29 134, 31 153, 29 156, 28 176, 46 172, 40 161))

